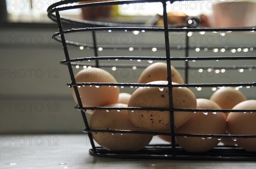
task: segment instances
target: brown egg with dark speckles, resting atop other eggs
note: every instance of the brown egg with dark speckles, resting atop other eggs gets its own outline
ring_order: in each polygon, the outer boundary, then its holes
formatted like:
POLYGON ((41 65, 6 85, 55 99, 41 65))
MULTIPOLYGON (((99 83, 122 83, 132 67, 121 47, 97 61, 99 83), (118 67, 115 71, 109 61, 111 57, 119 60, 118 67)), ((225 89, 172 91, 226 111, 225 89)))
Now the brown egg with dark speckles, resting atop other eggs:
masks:
MULTIPOLYGON (((155 81, 147 84, 167 85, 167 81, 155 81)), ((177 84, 174 83, 173 84, 177 84)), ((169 108, 168 87, 143 87, 138 88, 131 95, 128 107, 155 107, 169 108)), ((187 87, 174 87, 174 108, 195 108, 196 98, 194 93, 187 87)), ((192 116, 192 112, 174 112, 175 127, 180 127, 192 116)), ((138 128, 148 131, 170 132, 171 122, 169 111, 156 110, 128 110, 131 122, 138 128)))

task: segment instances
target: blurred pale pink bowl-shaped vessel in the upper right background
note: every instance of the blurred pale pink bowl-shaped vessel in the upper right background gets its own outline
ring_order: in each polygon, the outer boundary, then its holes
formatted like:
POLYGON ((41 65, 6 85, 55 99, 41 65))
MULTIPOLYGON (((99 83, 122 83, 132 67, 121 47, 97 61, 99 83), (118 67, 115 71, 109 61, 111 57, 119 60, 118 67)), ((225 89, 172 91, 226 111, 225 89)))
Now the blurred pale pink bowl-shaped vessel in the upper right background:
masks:
POLYGON ((256 25, 256 2, 224 1, 215 4, 209 16, 210 27, 252 27, 256 25))

